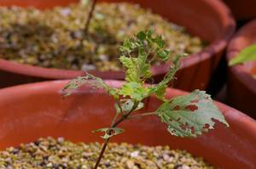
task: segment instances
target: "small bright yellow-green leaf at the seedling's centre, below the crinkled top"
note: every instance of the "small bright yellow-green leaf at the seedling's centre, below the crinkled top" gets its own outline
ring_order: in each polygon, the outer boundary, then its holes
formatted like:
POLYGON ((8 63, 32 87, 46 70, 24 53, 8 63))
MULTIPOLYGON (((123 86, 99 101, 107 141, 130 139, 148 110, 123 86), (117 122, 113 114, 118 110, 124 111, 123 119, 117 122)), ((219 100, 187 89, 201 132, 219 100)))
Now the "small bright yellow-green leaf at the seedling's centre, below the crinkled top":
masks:
POLYGON ((129 96, 131 99, 141 102, 149 96, 149 89, 148 87, 143 87, 141 83, 128 82, 119 89, 119 95, 123 95, 124 97, 129 96))

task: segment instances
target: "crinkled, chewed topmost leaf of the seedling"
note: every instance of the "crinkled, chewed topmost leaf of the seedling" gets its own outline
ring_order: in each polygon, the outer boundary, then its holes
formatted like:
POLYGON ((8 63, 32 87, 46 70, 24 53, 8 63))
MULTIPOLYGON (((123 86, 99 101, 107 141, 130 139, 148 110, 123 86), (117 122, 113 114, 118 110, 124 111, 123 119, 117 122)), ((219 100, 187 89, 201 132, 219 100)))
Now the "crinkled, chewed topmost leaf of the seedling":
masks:
POLYGON ((125 67, 127 82, 142 82, 151 77, 149 54, 154 53, 164 61, 170 58, 170 52, 164 48, 163 38, 161 36, 154 38, 153 34, 152 30, 140 31, 136 36, 126 39, 120 47, 119 60, 125 67))

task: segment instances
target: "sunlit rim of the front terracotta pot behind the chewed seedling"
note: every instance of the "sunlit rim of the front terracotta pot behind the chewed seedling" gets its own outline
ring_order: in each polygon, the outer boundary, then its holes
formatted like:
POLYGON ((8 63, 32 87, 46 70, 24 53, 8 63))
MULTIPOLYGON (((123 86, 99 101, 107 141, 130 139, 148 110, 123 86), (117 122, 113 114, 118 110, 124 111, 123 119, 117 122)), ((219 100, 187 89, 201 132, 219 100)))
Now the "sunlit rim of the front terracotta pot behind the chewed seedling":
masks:
MULTIPOLYGON (((49 92, 55 92, 56 88, 59 88, 59 93, 62 93, 62 90, 60 88, 64 87, 68 80, 55 80, 55 81, 46 81, 46 82, 34 82, 34 83, 28 83, 23 85, 17 85, 14 87, 6 87, 3 89, 0 89, 0 97, 4 96, 5 99, 12 98, 16 93, 20 93, 20 91, 26 91, 26 94, 30 94, 32 92, 33 94, 40 94, 41 91, 49 91, 49 92)), ((118 80, 105 80, 109 86, 111 87, 120 87, 122 84, 124 84, 124 81, 118 81, 118 80)), ((83 90, 79 90, 78 93, 83 93, 83 90)), ((102 90, 94 90, 91 93, 102 93, 102 90)), ((188 92, 168 87, 166 89, 166 97, 172 98, 173 96, 178 95, 185 95, 188 94, 188 92)), ((225 118, 227 121, 238 121, 237 124, 241 125, 241 127, 244 127, 244 124, 247 124, 246 127, 252 135, 256 134, 256 120, 251 118, 250 116, 242 113, 239 110, 236 110, 229 105, 222 104, 218 101, 214 100, 214 103, 218 105, 218 108, 224 113, 225 118), (255 133, 253 133, 255 132, 255 133)))

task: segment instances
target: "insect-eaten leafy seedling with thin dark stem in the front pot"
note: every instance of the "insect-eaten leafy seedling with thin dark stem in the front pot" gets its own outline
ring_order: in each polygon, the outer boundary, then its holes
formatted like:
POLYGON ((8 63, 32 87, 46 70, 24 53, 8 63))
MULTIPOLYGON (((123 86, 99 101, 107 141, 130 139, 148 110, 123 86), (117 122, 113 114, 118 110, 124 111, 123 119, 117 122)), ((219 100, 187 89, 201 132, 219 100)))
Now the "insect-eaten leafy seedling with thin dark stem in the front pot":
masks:
POLYGON ((95 169, 100 164, 110 138, 124 132, 123 128, 119 128, 119 124, 123 121, 155 115, 166 123, 167 131, 172 135, 190 138, 195 138, 213 129, 215 121, 222 122, 229 127, 224 115, 213 104, 210 95, 204 91, 195 90, 188 95, 172 99, 165 98, 166 87, 174 80, 179 68, 179 59, 184 54, 172 59, 171 51, 166 48, 165 41, 160 35, 154 35, 154 31, 140 31, 137 35, 127 38, 119 50, 119 61, 125 69, 125 82, 122 87, 110 87, 101 78, 86 73, 85 76, 79 76, 68 82, 63 89, 65 95, 68 96, 74 89, 89 85, 106 90, 115 100, 113 105, 115 115, 110 127, 93 131, 103 132, 102 138, 105 140, 95 169), (146 82, 152 78, 150 67, 154 58, 163 62, 172 59, 172 65, 161 82, 146 85, 146 82), (154 95, 163 103, 154 112, 137 113, 137 110, 145 106, 143 100, 148 99, 150 95, 154 95))

